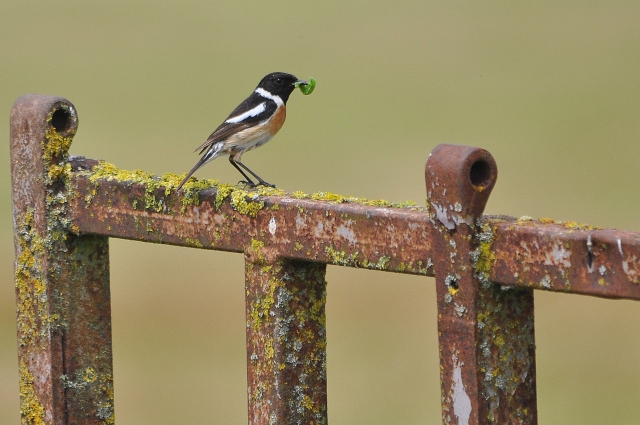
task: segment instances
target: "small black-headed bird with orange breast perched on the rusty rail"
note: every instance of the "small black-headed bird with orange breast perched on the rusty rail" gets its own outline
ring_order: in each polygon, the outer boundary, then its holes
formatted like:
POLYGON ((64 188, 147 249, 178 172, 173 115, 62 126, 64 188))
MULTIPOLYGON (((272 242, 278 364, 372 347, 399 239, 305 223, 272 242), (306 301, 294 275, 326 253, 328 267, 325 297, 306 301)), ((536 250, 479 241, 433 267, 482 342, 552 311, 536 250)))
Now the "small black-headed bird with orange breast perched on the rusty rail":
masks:
POLYGON ((241 183, 250 187, 259 184, 275 187, 251 171, 240 159, 243 153, 264 145, 276 135, 287 116, 286 103, 289 95, 296 87, 307 84, 308 81, 298 80, 296 76, 284 72, 272 72, 265 76, 253 93, 196 149, 200 150, 200 155, 204 155, 176 190, 180 190, 198 168, 222 155, 229 155, 231 165, 246 179, 241 183), (240 167, 255 177, 258 183, 251 180, 240 167))

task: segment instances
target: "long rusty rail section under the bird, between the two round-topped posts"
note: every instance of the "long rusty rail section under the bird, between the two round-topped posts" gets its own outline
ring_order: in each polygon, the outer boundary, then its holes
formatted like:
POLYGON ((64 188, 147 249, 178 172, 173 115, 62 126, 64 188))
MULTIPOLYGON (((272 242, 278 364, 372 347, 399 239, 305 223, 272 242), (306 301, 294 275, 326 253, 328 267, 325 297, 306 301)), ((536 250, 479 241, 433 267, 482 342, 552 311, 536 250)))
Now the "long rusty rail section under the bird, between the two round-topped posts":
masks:
POLYGON ((183 197, 164 187, 149 193, 133 181, 92 182, 82 171, 74 182, 73 223, 83 233, 233 252, 258 238, 287 258, 433 275, 431 223, 422 211, 244 191, 240 201, 236 192, 220 199, 216 188, 200 192, 198 205, 184 206, 183 197))

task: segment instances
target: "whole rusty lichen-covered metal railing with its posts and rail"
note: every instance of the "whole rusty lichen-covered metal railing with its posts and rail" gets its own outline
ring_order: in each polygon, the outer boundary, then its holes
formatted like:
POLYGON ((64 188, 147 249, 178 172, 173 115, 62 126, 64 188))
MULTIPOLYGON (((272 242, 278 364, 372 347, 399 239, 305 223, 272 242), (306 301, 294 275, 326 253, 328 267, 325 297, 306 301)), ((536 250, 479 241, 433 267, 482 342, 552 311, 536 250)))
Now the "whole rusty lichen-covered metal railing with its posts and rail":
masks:
POLYGON ((69 157, 73 105, 11 112, 23 422, 112 424, 108 238, 243 253, 249 422, 327 422, 326 264, 436 277, 443 423, 537 422, 533 290, 640 298, 640 234, 482 216, 491 155, 441 145, 428 206, 125 172, 69 157))

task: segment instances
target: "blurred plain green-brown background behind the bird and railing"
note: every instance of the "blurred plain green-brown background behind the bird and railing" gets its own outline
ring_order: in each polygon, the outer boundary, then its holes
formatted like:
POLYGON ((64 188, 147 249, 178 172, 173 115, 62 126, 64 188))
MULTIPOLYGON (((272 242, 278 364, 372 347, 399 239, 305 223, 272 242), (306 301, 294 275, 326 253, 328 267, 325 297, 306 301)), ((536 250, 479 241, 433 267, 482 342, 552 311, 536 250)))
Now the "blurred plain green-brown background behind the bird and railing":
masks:
MULTIPOLYGON (((260 78, 313 76, 244 157, 289 191, 424 202, 439 143, 496 158, 488 213, 640 231, 640 2, 0 1, 0 423, 18 424, 9 112, 77 107, 73 154, 183 173, 260 78)), ((235 183, 215 161, 199 177, 235 183)), ((240 255, 111 241, 120 424, 246 423, 240 255)), ((332 424, 438 424, 431 279, 329 267, 332 424)), ((542 424, 636 424, 640 304, 536 292, 542 424)))

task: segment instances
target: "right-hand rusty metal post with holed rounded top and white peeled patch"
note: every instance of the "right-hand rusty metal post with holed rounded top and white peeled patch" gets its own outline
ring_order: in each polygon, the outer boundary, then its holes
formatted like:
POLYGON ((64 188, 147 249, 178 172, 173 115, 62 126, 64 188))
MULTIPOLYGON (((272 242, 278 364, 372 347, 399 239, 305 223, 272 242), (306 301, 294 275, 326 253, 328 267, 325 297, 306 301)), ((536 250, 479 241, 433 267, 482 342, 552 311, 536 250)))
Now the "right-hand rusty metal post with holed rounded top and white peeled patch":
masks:
POLYGON ((444 424, 535 424, 533 290, 489 281, 480 217, 497 178, 489 152, 440 145, 426 166, 435 260, 444 424))

